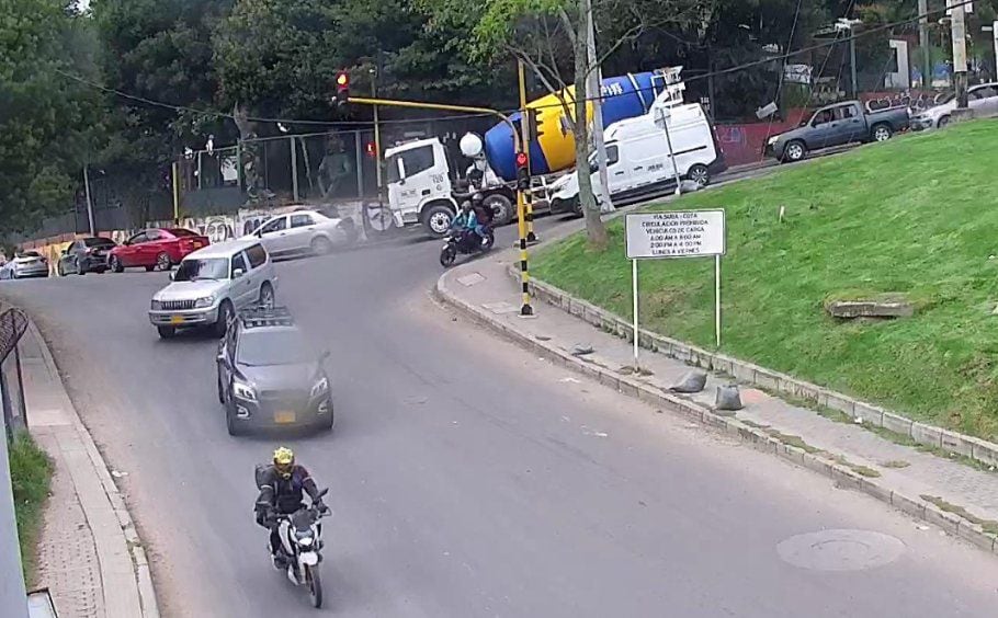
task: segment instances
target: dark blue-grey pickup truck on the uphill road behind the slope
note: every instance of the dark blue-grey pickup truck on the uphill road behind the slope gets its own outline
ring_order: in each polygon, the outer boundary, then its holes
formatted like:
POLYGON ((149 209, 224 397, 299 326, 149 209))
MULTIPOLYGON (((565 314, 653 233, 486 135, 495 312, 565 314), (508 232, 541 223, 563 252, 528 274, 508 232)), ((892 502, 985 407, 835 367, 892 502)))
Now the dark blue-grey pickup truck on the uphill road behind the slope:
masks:
POLYGON ((781 162, 799 161, 809 151, 855 141, 886 141, 908 128, 908 108, 891 107, 866 113, 859 101, 846 101, 819 108, 801 126, 769 138, 768 157, 781 162))

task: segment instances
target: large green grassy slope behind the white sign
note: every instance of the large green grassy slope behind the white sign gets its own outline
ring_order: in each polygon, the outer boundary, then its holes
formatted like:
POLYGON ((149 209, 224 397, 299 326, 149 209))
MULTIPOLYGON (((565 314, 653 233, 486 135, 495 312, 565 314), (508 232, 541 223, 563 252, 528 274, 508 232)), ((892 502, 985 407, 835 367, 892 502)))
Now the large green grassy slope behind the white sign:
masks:
MULTIPOLYGON (((724 207, 723 350, 911 416, 998 438, 998 122, 911 135, 682 198, 724 207), (778 221, 780 206, 786 220, 778 221), (823 302, 904 291, 911 319, 836 323, 823 302)), ((661 207, 653 207, 653 209, 661 207)), ((623 220, 605 254, 574 236, 534 274, 631 314, 623 220)), ((643 262, 642 322, 713 347, 713 261, 643 262)))

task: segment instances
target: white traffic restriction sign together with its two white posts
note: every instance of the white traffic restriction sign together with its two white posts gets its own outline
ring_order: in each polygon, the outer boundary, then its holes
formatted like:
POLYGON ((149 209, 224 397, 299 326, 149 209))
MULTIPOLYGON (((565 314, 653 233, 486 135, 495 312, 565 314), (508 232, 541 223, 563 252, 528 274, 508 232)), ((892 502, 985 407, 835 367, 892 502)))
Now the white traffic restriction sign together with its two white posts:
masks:
POLYGON ((638 277, 640 260, 714 258, 714 342, 721 347, 721 256, 725 253, 724 210, 673 210, 627 215, 627 259, 634 301, 634 367, 638 367, 638 277))

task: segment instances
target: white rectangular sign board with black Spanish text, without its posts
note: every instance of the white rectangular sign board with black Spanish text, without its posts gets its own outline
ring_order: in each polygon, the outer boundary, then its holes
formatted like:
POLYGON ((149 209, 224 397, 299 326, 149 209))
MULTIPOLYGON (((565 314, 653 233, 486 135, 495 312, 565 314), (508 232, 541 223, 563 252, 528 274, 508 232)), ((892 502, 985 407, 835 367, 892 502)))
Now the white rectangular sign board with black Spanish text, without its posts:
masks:
POLYGON ((676 210, 626 216, 627 258, 724 255, 724 210, 676 210))

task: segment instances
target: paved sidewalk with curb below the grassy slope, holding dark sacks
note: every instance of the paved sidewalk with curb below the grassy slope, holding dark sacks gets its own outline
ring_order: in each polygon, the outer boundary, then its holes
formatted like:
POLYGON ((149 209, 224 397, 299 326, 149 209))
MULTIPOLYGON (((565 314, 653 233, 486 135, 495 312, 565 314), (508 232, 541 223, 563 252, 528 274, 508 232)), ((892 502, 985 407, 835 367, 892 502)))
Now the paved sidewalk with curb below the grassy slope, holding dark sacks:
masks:
MULTIPOLYGON (((548 237, 545 242, 553 240, 548 237)), ((745 385, 740 386, 742 410, 715 411, 716 387, 730 384, 729 377, 708 374, 700 393, 673 394, 669 387, 692 369, 685 363, 643 348, 640 367, 650 375, 638 376, 631 369, 634 353, 627 340, 537 298, 532 300, 536 317, 521 318, 520 284, 508 272, 515 259, 514 252, 506 251, 454 267, 438 282, 436 295, 532 353, 665 411, 738 436, 998 553, 998 471, 994 467, 989 470, 979 462, 968 465, 906 446, 898 436, 869 431, 846 414, 819 414, 745 385), (592 348, 589 354, 574 354, 588 347, 592 348)))

